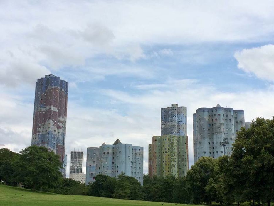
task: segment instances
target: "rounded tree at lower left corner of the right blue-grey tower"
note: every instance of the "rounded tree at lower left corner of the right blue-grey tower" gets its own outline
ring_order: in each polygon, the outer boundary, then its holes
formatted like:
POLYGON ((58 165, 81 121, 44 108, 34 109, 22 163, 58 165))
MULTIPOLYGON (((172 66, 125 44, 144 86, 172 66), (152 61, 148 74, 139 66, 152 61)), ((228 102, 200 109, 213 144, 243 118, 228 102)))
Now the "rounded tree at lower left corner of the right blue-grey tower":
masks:
POLYGON ((206 190, 210 178, 213 178, 216 160, 211 157, 201 157, 191 170, 187 172, 186 182, 193 203, 212 202, 211 194, 206 190))

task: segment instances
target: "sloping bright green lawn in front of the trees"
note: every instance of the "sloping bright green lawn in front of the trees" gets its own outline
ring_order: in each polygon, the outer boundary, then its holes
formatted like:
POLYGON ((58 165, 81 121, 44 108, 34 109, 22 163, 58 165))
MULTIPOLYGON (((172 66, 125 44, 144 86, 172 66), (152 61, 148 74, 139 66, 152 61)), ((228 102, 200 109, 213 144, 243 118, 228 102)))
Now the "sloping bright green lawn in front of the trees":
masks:
MULTIPOLYGON (((0 205, 183 205, 163 202, 147 202, 136 200, 119 200, 102 197, 80 195, 58 195, 46 192, 36 192, 18 187, 0 185, 0 205)), ((186 205, 184 205, 186 206, 186 205)))

